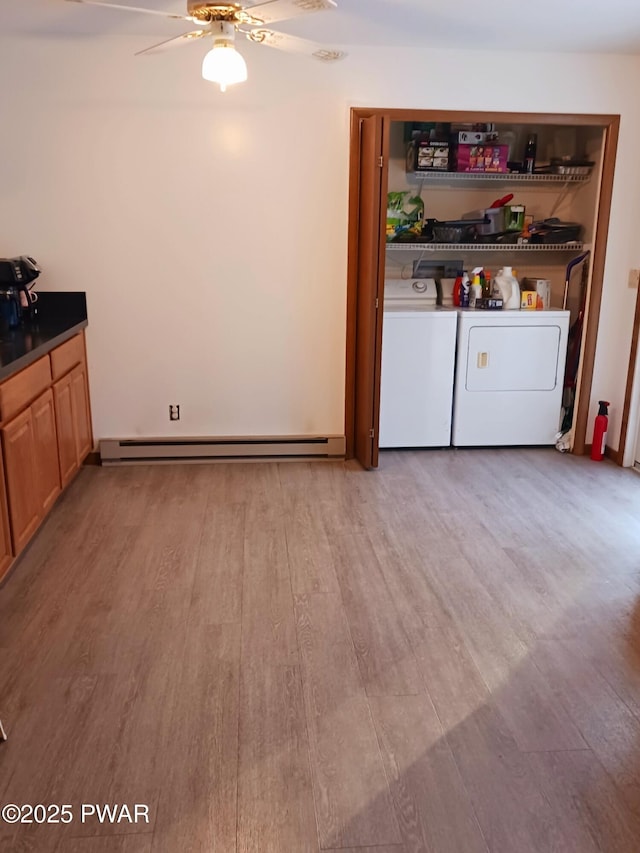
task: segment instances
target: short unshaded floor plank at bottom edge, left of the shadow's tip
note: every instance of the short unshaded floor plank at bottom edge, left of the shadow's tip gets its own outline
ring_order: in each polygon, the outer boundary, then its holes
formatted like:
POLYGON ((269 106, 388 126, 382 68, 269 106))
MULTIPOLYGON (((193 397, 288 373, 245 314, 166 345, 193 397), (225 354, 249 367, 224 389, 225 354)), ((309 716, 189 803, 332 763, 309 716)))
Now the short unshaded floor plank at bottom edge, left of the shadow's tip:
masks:
POLYGON ((243 666, 238 853, 317 853, 298 667, 243 666))

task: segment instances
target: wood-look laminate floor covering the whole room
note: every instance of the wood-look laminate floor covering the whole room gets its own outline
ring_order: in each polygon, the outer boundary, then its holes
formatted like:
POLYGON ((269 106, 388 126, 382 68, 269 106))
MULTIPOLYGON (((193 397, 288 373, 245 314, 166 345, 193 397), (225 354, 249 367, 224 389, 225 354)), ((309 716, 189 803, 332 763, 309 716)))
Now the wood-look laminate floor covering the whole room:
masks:
POLYGON ((86 468, 0 587, 0 804, 74 820, 0 850, 637 853, 639 600, 608 462, 86 468))

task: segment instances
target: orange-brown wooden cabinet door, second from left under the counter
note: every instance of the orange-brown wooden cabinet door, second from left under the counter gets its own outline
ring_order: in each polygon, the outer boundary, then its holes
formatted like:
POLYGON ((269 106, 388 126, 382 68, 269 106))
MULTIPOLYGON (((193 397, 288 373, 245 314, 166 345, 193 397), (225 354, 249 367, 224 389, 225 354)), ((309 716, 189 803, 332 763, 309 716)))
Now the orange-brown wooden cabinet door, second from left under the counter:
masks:
POLYGON ((27 409, 2 430, 13 551, 17 556, 40 523, 33 415, 27 409))

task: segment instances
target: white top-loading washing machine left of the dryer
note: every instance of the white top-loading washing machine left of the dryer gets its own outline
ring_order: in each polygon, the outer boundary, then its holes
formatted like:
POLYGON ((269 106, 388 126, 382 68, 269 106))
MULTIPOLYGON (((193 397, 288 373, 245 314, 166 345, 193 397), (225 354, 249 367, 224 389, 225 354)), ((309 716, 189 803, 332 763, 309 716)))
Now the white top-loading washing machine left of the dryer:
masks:
POLYGON ((451 444, 457 322, 432 279, 385 282, 381 448, 451 444))

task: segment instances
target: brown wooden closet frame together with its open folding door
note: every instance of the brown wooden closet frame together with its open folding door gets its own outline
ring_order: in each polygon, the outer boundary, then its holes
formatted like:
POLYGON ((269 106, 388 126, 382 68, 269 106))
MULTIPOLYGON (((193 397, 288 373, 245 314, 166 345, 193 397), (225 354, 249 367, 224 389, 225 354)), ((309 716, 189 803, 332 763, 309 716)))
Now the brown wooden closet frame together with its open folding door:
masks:
MULTIPOLYGON (((539 113, 398 110, 351 111, 349 256, 345 435, 347 457, 367 469, 378 465, 382 324, 386 263, 386 208, 394 123, 496 124, 573 128, 596 140, 591 178, 593 222, 589 225, 590 270, 581 330, 573 416, 573 452, 584 454, 593 378, 613 174, 620 117, 539 113)), ((393 169, 393 162, 392 162, 393 169)), ((505 183, 505 191, 508 184, 505 183)))

